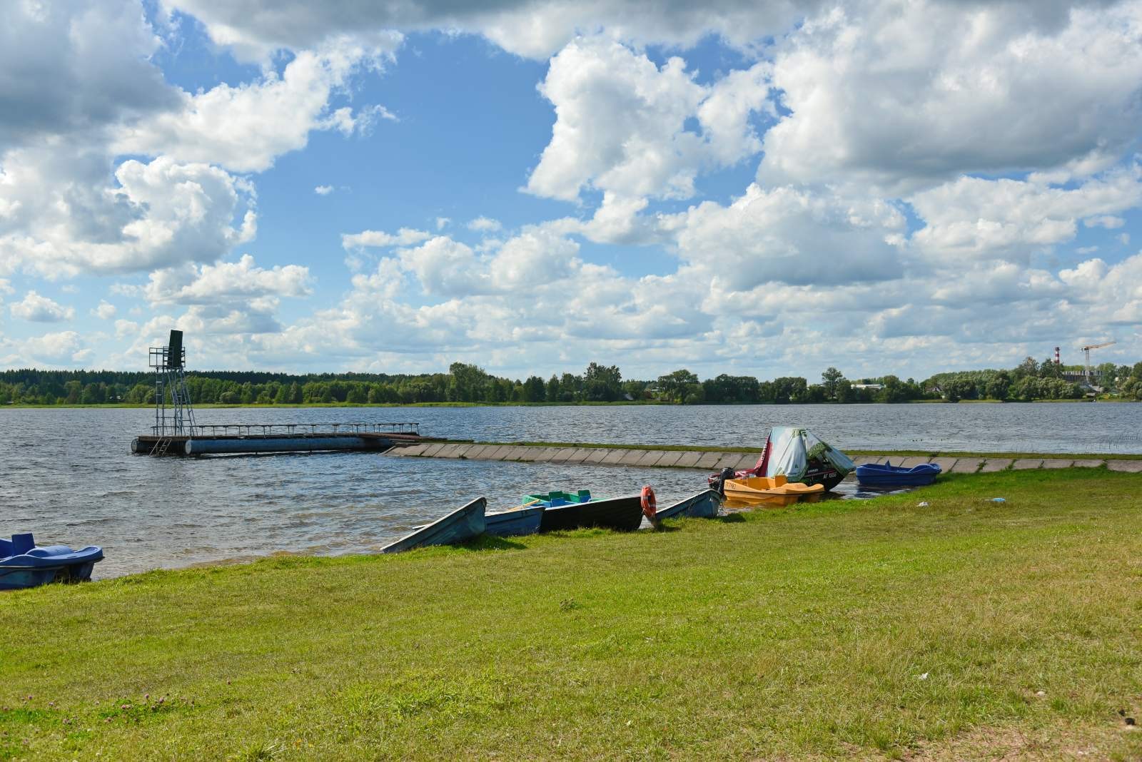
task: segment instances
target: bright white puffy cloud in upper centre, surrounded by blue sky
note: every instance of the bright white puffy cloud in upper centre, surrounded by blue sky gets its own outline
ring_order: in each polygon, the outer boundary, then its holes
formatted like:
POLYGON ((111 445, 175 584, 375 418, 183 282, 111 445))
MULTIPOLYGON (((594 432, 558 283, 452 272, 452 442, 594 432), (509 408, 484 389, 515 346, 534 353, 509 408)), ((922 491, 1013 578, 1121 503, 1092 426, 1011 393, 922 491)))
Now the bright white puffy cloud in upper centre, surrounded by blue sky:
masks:
POLYGON ((703 164, 732 164, 761 148, 748 116, 765 107, 767 71, 758 64, 706 87, 681 57, 658 67, 606 37, 577 39, 540 86, 556 120, 526 188, 565 201, 585 187, 689 197, 703 164), (686 129, 689 119, 701 133, 686 129))

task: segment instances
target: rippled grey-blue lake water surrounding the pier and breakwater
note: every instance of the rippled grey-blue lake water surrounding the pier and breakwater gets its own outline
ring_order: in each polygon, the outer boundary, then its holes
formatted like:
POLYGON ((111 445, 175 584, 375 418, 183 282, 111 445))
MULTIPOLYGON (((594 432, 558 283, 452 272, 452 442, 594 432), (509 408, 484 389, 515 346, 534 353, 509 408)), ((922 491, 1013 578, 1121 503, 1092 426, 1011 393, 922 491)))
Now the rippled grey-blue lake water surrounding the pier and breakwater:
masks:
MULTIPOLYGON (((485 441, 759 447, 804 425, 845 448, 1142 453, 1142 405, 757 405, 202 410, 199 423, 417 421, 485 441)), ((651 484, 659 505, 705 487, 671 469, 386 457, 376 453, 154 459, 130 454, 147 410, 0 408, 0 536, 103 545, 96 577, 275 552, 377 550, 478 495, 606 497, 651 484)))

